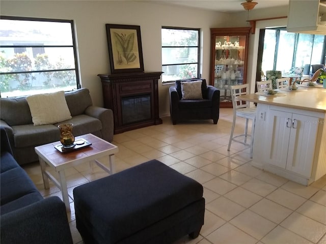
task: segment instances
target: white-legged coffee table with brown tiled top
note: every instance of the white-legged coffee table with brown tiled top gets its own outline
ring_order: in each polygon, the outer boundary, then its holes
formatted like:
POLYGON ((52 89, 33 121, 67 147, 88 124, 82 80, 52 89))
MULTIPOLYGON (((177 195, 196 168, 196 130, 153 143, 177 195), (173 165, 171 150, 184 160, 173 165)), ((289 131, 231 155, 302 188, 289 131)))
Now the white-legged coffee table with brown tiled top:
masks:
POLYGON ((118 153, 118 147, 92 134, 77 136, 75 140, 82 138, 92 143, 92 145, 69 151, 68 153, 61 153, 55 148, 56 145, 61 144, 60 141, 35 147, 40 160, 44 188, 49 189, 50 179, 61 190, 62 198, 68 211, 70 211, 70 204, 65 169, 94 161, 107 173, 115 173, 114 154, 118 153), (98 159, 103 157, 108 157, 109 168, 98 161, 98 159), (59 173, 59 181, 46 170, 46 164, 59 173))

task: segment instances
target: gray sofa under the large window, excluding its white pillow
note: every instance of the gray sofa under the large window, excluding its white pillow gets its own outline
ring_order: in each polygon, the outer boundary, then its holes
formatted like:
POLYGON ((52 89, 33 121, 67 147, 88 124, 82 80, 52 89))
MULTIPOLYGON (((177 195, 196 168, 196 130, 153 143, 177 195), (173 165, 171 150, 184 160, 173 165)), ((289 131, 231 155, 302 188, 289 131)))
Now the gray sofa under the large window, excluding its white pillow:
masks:
POLYGON ((34 126, 25 97, 1 98, 0 125, 8 134, 13 155, 18 164, 38 160, 35 146, 59 141, 58 125, 62 123, 74 124, 74 136, 92 133, 108 142, 113 140, 114 120, 111 109, 93 106, 87 88, 67 92, 65 98, 72 118, 53 125, 41 126, 34 126))

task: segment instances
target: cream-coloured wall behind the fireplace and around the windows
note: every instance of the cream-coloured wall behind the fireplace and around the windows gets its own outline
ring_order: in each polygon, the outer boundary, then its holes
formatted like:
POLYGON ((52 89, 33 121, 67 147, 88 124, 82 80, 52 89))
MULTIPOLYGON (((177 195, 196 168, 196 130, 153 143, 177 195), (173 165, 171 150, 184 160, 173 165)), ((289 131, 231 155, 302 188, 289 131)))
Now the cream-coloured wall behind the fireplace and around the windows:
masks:
MULTIPOLYGON (((151 3, 145 1, 1 1, 0 14, 73 19, 76 26, 82 86, 90 89, 93 103, 97 106, 103 105, 102 87, 97 74, 110 73, 106 23, 141 26, 145 71, 161 71, 162 25, 201 28, 201 73, 202 77, 207 80, 210 69, 210 28, 248 26, 245 21, 247 20, 246 11, 231 15, 193 8, 159 5, 155 1, 151 3)), ((250 19, 274 16, 282 16, 282 11, 280 13, 279 9, 268 10, 265 14, 261 10, 250 12, 250 19)), ((252 80, 251 73, 256 72, 254 60, 257 57, 257 54, 254 53, 256 42, 253 43, 256 38, 252 37, 254 36, 251 35, 250 37, 248 80, 252 80)), ((160 116, 169 114, 168 88, 168 85, 159 84, 160 116)))

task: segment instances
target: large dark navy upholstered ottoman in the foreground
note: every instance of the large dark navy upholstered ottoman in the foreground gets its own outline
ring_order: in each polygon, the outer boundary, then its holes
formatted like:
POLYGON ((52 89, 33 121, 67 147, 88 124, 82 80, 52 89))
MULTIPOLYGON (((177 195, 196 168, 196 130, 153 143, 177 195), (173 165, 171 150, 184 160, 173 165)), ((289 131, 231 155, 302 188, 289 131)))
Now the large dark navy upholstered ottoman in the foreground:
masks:
POLYGON ((73 190, 76 226, 86 243, 172 243, 199 235, 203 187, 151 160, 73 190))

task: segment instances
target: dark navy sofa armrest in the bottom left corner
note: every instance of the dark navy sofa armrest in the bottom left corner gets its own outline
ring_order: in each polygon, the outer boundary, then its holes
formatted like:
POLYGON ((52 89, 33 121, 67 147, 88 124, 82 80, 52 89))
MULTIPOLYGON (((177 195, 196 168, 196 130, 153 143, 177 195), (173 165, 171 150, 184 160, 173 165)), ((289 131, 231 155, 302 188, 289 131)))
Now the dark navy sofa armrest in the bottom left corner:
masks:
POLYGON ((49 197, 1 216, 1 244, 72 244, 66 207, 49 197))

